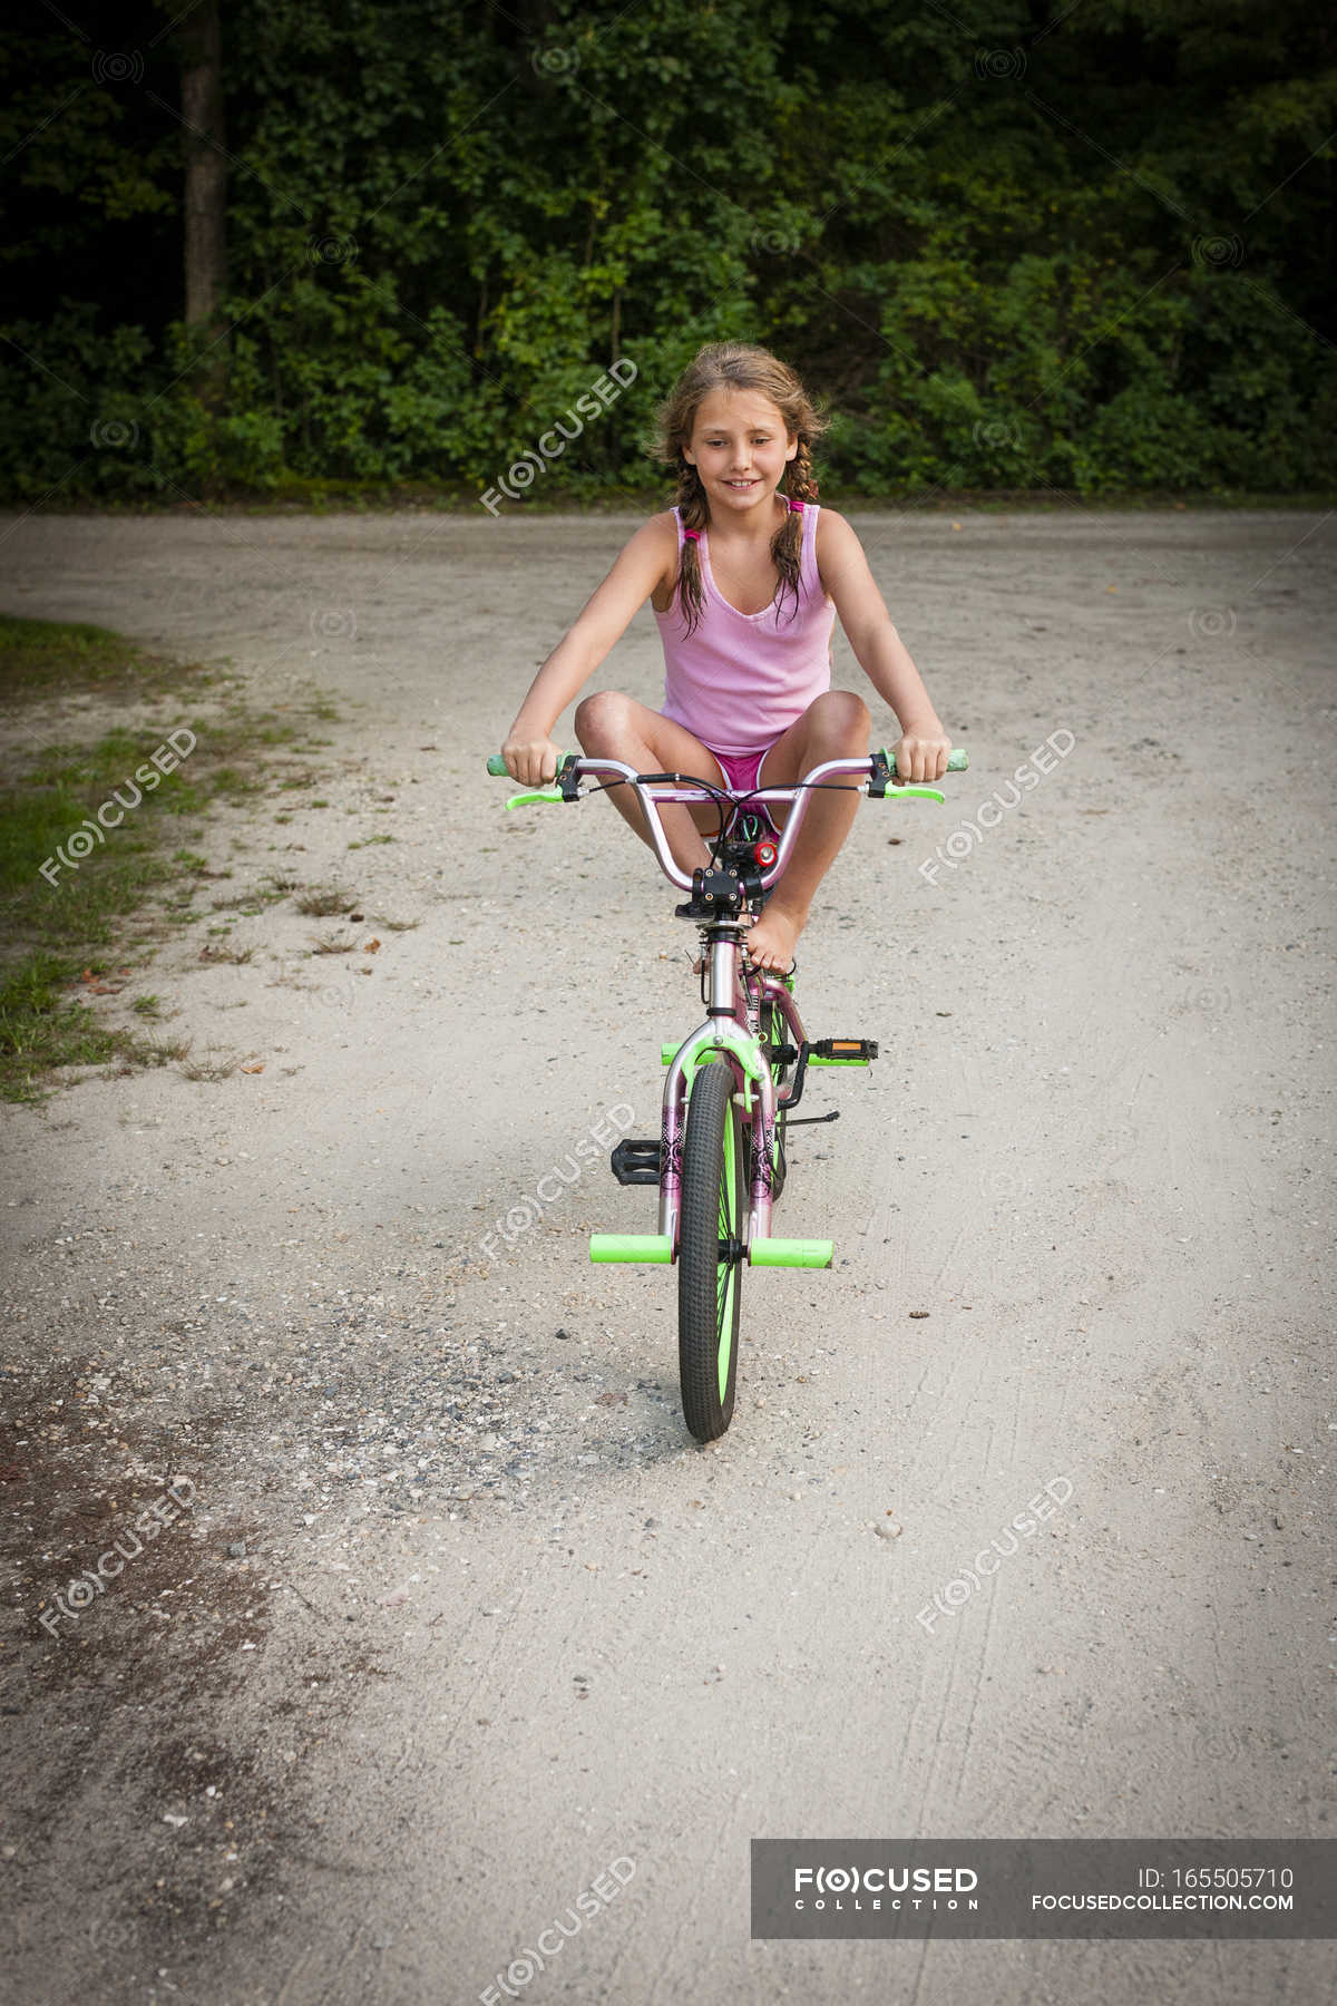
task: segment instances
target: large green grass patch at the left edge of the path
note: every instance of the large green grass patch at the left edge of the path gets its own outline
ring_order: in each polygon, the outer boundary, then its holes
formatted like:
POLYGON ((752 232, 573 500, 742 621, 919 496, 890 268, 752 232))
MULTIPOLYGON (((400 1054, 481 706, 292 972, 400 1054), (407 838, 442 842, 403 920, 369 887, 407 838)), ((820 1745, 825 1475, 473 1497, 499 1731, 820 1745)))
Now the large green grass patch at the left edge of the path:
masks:
MULTIPOLYGON (((0 698, 18 722, 0 784, 0 1097, 42 1101, 60 1067, 128 1069, 184 1057, 184 1043, 102 1023, 74 985, 112 963, 142 961, 152 945, 208 917, 192 905, 200 883, 233 873, 200 855, 204 820, 271 786, 285 748, 291 772, 299 740, 309 750, 313 716, 331 710, 303 702, 251 710, 214 672, 150 656, 106 628, 8 616, 0 618, 0 698), (136 700, 160 708, 160 718, 112 724, 88 742, 46 744, 20 764, 20 748, 32 742, 24 712, 50 696, 92 698, 92 732, 100 714, 124 716, 136 700), (162 754, 168 732, 176 762, 162 770, 152 754, 162 754)), ((245 905, 259 911, 295 885, 271 879, 245 905)), ((253 951, 212 949, 210 959, 247 961, 253 951)), ((130 1007, 138 1017, 162 1013, 158 997, 130 1007)))

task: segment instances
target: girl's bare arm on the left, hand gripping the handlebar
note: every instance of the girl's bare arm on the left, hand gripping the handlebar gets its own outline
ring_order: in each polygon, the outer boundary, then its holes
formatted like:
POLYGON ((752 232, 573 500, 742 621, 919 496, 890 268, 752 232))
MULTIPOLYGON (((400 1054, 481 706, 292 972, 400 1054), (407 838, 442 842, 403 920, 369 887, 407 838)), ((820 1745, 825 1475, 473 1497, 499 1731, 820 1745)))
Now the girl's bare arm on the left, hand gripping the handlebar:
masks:
POLYGON ((651 516, 623 544, 603 584, 589 596, 575 624, 529 684, 529 694, 501 746, 507 772, 525 786, 541 786, 557 772, 557 746, 549 736, 553 724, 627 630, 635 610, 661 582, 667 584, 676 576, 676 568, 674 518, 651 516))

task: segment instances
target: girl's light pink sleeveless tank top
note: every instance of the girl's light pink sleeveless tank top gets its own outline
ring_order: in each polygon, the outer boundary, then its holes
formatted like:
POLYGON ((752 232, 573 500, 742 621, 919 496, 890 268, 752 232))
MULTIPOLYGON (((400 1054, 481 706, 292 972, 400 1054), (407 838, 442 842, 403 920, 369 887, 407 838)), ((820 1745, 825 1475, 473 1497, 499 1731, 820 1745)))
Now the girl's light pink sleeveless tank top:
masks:
MULTIPOLYGON (((682 516, 678 558, 682 562, 682 516)), ((836 606, 818 576, 818 504, 804 504, 804 544, 798 608, 794 594, 760 614, 740 614, 716 588, 710 570, 710 532, 702 532, 704 604, 696 634, 678 598, 655 612, 663 640, 663 716, 686 724, 712 752, 760 752, 808 704, 832 686, 832 628, 836 606)))

